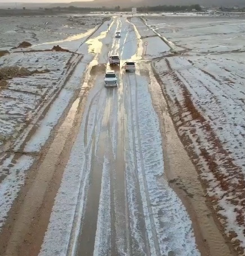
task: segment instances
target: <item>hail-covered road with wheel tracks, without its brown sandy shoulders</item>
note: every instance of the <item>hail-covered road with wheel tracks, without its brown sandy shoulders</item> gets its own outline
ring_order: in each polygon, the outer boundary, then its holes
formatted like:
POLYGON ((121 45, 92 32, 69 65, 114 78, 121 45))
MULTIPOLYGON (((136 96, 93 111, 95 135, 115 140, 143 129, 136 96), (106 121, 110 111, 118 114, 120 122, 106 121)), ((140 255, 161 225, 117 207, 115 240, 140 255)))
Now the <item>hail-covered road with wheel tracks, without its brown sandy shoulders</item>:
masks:
POLYGON ((63 255, 64 250, 67 255, 200 255, 185 207, 163 178, 148 72, 140 63, 135 73, 115 67, 118 88, 104 88, 101 65, 110 68, 108 54, 119 54, 122 63, 142 58, 135 27, 114 18, 107 33, 88 43, 97 59, 94 85, 40 255, 63 255), (115 38, 116 31, 121 38, 115 38), (69 189, 71 172, 76 180, 69 189), (69 198, 69 210, 55 210, 69 198), (62 239, 54 248, 59 231, 62 239))

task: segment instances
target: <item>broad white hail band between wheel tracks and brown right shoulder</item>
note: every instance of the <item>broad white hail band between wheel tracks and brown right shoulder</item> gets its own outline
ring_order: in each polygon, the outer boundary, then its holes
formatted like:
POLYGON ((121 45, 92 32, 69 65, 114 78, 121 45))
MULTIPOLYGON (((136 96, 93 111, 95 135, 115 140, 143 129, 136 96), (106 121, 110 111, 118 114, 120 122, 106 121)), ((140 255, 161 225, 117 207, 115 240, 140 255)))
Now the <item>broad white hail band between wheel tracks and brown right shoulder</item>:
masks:
MULTIPOLYGON (((154 229, 162 255, 170 251, 176 255, 200 255, 188 213, 163 179, 162 138, 148 92, 148 81, 140 75, 130 76, 130 80, 133 124, 128 122, 128 129, 133 129, 135 134, 137 171, 152 255, 156 254, 154 229)), ((134 138, 130 137, 130 140, 132 145, 134 138)))

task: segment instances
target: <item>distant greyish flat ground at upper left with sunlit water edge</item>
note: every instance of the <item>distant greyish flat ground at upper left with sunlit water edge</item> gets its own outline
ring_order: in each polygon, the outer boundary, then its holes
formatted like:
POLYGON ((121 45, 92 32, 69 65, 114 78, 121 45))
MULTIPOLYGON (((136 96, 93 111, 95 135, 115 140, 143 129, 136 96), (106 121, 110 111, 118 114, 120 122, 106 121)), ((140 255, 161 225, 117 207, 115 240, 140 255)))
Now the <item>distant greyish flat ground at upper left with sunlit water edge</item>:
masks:
POLYGON ((97 15, 0 17, 2 24, 0 47, 6 47, 8 50, 23 41, 39 45, 39 49, 44 44, 53 46, 56 42, 62 44, 68 40, 77 41, 79 44, 84 34, 101 24, 103 18, 97 15))

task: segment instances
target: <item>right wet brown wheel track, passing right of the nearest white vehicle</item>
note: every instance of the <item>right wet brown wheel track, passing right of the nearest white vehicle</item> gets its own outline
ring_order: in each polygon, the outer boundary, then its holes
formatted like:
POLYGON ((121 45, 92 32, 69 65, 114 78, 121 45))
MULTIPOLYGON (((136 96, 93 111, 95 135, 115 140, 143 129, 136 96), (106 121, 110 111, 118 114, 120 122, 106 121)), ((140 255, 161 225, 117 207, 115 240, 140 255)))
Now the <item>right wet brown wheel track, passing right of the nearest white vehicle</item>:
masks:
POLYGON ((125 185, 125 161, 124 161, 124 98, 123 83, 121 73, 119 74, 120 83, 115 99, 117 106, 117 116, 114 122, 117 123, 117 150, 115 152, 115 168, 112 172, 112 255, 130 255, 127 248, 131 248, 130 226, 128 222, 128 211, 126 203, 125 185))

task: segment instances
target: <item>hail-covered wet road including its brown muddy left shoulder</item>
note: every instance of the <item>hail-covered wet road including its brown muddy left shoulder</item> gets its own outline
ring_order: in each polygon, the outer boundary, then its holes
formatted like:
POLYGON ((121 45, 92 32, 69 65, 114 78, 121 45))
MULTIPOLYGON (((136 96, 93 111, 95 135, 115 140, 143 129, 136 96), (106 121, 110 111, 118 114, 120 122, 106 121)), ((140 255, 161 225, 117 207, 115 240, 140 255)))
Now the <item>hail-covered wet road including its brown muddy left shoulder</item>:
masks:
POLYGON ((89 60, 78 97, 35 164, 11 232, 3 232, 2 251, 201 255, 188 211, 166 179, 162 123, 151 94, 157 81, 150 63, 143 63, 139 33, 126 18, 114 17, 86 44, 92 58, 84 56, 89 60), (109 54, 136 62, 133 73, 112 67, 118 88, 104 87, 109 54))

